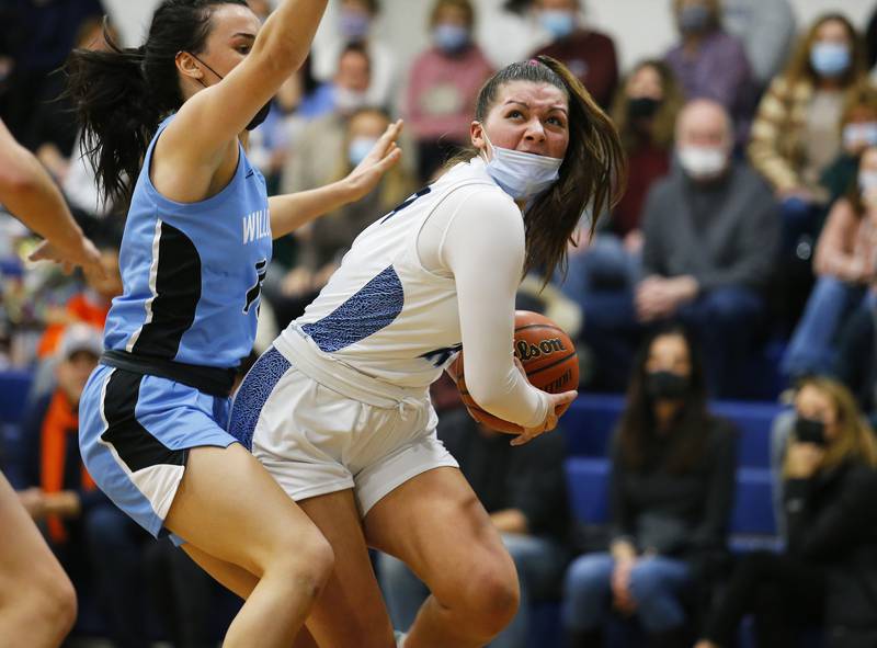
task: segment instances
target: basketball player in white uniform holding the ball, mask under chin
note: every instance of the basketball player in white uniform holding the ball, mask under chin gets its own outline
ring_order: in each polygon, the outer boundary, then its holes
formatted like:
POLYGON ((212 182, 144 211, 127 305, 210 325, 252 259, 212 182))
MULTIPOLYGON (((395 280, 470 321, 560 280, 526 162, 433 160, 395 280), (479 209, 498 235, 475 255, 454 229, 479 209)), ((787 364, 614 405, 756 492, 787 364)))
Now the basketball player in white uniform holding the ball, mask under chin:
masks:
POLYGON ((231 434, 333 546, 307 622, 321 646, 394 645, 368 545, 433 592, 408 648, 482 646, 516 611, 514 566, 436 439, 428 388, 463 345, 472 398, 524 428, 512 443, 556 425, 576 393, 540 391, 515 367, 515 291, 524 270, 562 262, 584 206, 600 213, 624 164, 608 120, 548 58, 488 81, 472 144, 360 235, 232 407, 231 434))

